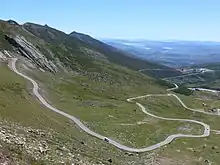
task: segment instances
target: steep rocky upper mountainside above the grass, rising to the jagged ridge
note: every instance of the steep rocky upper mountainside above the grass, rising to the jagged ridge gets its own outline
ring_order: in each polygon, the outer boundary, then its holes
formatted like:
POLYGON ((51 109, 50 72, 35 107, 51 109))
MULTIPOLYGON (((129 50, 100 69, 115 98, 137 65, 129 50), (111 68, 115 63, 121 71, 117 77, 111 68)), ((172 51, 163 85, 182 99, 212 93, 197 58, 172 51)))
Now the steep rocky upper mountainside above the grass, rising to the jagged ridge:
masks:
POLYGON ((46 66, 46 70, 52 72, 61 68, 99 71, 100 63, 119 64, 134 70, 166 68, 137 59, 88 35, 76 32, 68 35, 47 25, 41 26, 32 23, 18 25, 13 21, 0 21, 0 27, 0 48, 10 49, 13 45, 13 48, 17 48, 23 56, 30 60, 33 60, 33 57, 30 57, 30 54, 33 53, 30 51, 34 51, 34 54, 40 56, 38 59, 34 58, 34 62, 44 69, 46 66), (23 48, 27 48, 27 45, 29 45, 29 50, 24 50, 23 48))

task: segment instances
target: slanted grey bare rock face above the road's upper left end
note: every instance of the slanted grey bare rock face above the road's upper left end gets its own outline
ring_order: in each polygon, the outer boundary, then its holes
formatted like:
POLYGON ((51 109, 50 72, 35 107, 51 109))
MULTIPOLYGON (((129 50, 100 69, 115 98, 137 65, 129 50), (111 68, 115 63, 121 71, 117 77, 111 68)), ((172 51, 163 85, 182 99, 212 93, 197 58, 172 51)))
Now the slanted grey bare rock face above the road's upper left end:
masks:
POLYGON ((38 67, 48 70, 50 72, 57 72, 57 66, 48 60, 32 43, 28 42, 23 36, 11 37, 5 35, 5 39, 12 44, 21 55, 27 57, 38 67))

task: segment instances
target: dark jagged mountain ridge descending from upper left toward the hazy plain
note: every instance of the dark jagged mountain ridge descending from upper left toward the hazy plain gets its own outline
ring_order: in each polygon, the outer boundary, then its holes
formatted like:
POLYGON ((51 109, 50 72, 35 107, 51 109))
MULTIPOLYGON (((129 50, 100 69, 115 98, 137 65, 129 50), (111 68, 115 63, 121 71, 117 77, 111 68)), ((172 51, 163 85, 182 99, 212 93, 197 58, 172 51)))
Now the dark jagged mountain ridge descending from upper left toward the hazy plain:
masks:
POLYGON ((34 43, 36 49, 39 49, 41 53, 44 52, 47 59, 53 60, 56 58, 59 60, 59 63, 64 64, 63 66, 67 66, 69 69, 82 69, 82 67, 79 67, 82 65, 81 61, 87 61, 86 63, 91 67, 95 67, 94 63, 96 61, 104 63, 108 61, 133 70, 158 67, 167 68, 136 58, 129 53, 107 45, 89 35, 75 31, 66 34, 48 25, 39 25, 30 22, 19 25, 13 20, 1 21, 1 28, 3 31, 1 34, 4 38, 8 38, 9 36, 9 38, 13 38, 12 36, 16 36, 14 34, 17 33, 25 37, 25 40, 28 41, 29 39, 32 44, 34 43), (9 29, 11 29, 11 31, 9 29), (68 60, 63 59, 64 56, 68 58, 68 60), (77 67, 74 68, 72 64, 77 65, 77 67))

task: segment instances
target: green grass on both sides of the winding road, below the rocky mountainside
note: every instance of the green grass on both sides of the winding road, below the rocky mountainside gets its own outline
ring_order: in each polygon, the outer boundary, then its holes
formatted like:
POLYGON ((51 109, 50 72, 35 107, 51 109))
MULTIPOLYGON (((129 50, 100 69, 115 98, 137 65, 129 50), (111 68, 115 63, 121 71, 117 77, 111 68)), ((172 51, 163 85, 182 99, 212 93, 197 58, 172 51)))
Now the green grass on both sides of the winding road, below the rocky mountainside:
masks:
MULTIPOLYGON (((21 69, 20 65, 19 68, 21 69)), ((115 69, 117 70, 117 67, 115 69)), ((2 118, 25 126, 46 130, 51 128, 59 133, 54 137, 56 142, 69 144, 69 146, 74 145, 73 148, 77 148, 77 152, 83 153, 85 157, 89 157, 92 160, 96 160, 96 158, 107 160, 110 157, 114 158, 114 164, 127 164, 129 161, 141 164, 147 159, 149 154, 159 153, 159 156, 171 159, 189 160, 191 164, 197 163, 196 160, 199 155, 213 159, 213 162, 218 162, 216 154, 208 154, 208 152, 212 153, 210 146, 218 146, 217 135, 201 139, 183 138, 172 142, 167 147, 139 154, 139 156, 129 157, 113 146, 81 132, 67 119, 45 109, 26 90, 30 89, 30 83, 9 71, 6 66, 1 66, 0 72, 2 73, 0 78, 4 80, 0 85, 1 89, 4 89, 1 92, 5 92, 4 95, 7 98, 13 97, 11 103, 7 103, 10 106, 6 109, 1 109, 2 118), (14 84, 16 84, 16 87, 14 87, 14 84), (11 95, 10 92, 12 93, 11 95), (19 93, 16 95, 16 92, 19 93), (16 115, 14 111, 16 111, 16 115), (82 141, 86 145, 82 145, 82 141), (182 142, 187 142, 187 144, 182 142), (208 147, 201 151, 196 151, 196 153, 187 149, 193 146, 198 150, 206 143, 208 147), (184 154, 175 152, 178 149, 184 154), (204 156, 203 151, 207 153, 207 156, 204 156), (93 154, 91 155, 91 153, 93 154)), ((187 134, 200 133, 201 127, 196 124, 162 121, 144 115, 138 107, 132 103, 127 103, 125 99, 147 93, 166 93, 166 90, 155 86, 148 77, 143 77, 142 79, 135 72, 129 72, 126 69, 125 73, 127 74, 114 73, 116 74, 115 77, 118 77, 117 83, 113 81, 110 85, 107 82, 97 82, 97 80, 80 75, 69 76, 62 74, 54 76, 37 71, 26 72, 26 74, 31 75, 39 82, 42 89, 44 89, 41 92, 48 98, 49 102, 63 111, 78 116, 91 129, 129 146, 144 147, 159 142, 167 135, 177 132, 187 134), (135 79, 129 79, 129 76, 134 76, 135 79), (146 81, 149 83, 145 83, 146 81), (146 121, 146 123, 137 124, 140 121, 146 121), (184 129, 185 127, 192 127, 193 129, 187 130, 184 129)), ((187 96, 182 97, 188 98, 187 96)), ((154 99, 139 101, 145 104, 151 113, 158 116, 196 119, 210 124, 212 129, 220 129, 218 124, 219 117, 186 111, 172 97, 155 97, 154 99)), ((190 101, 191 99, 188 99, 187 104, 191 105, 192 102, 190 101)), ((76 151, 73 150, 73 152, 76 151)))

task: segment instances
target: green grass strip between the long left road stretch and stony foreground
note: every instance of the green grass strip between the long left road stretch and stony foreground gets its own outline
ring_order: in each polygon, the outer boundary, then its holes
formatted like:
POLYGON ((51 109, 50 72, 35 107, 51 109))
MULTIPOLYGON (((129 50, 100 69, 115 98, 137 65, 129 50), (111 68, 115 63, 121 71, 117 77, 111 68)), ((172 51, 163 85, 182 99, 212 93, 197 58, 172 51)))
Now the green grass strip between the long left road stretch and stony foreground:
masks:
POLYGON ((0 80, 0 89, 3 89, 0 91, 0 117, 2 120, 19 123, 25 127, 56 132, 52 139, 54 142, 61 146, 68 146, 76 155, 80 154, 91 161, 107 162, 109 157, 113 158, 118 155, 119 158, 114 162, 122 164, 120 162, 124 157, 123 152, 88 136, 73 122, 44 108, 27 90, 30 88, 30 84, 9 71, 5 65, 0 66, 0 80))

